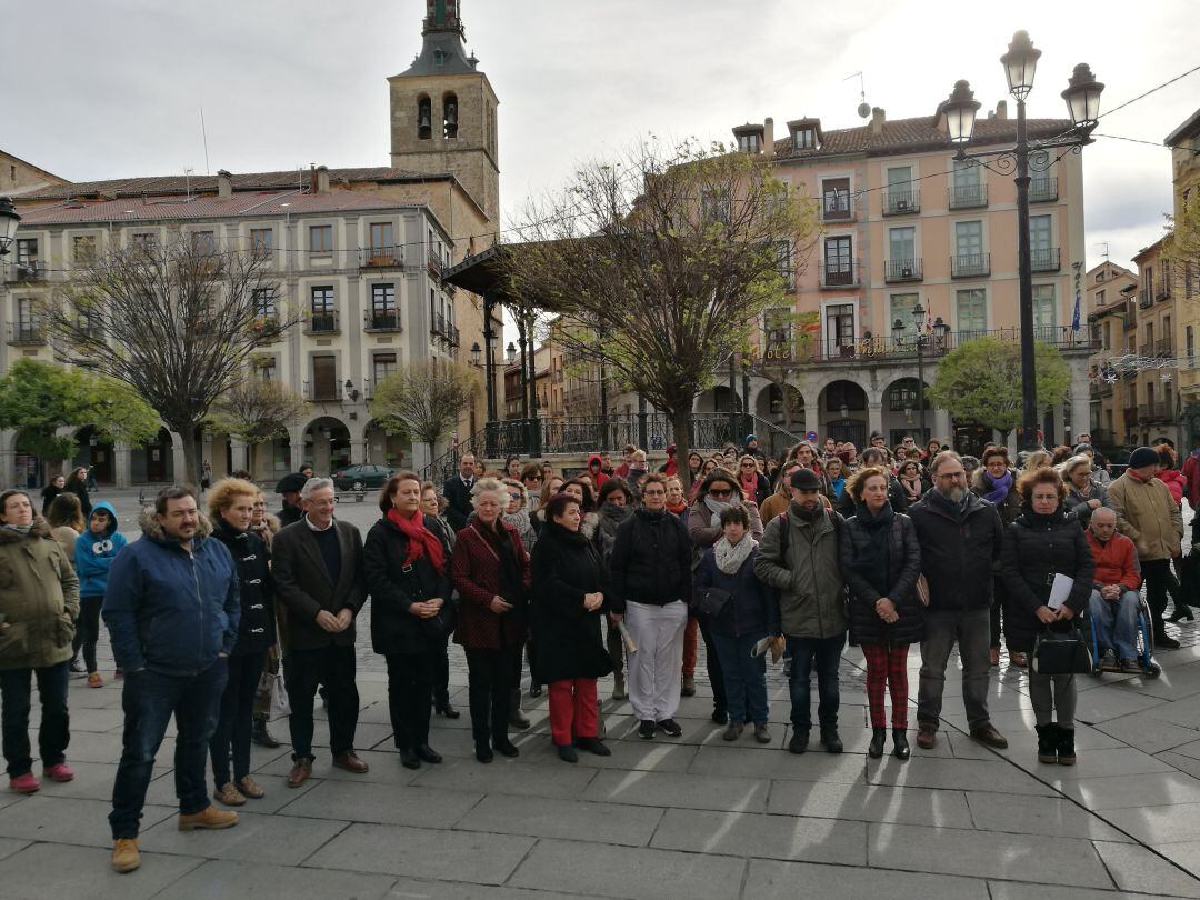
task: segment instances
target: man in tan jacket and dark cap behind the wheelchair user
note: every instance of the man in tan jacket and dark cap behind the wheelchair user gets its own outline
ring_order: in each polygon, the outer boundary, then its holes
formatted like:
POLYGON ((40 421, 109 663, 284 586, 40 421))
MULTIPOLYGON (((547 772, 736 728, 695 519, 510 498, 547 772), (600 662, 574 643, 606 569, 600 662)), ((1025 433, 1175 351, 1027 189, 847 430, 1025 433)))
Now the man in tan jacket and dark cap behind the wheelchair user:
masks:
POLYGON ((1183 515, 1166 485, 1154 478, 1158 468, 1158 452, 1139 446, 1130 454, 1124 474, 1109 485, 1109 500, 1117 514, 1117 530, 1138 547, 1154 625, 1154 647, 1175 650, 1180 642, 1166 635, 1163 612, 1166 588, 1172 581, 1171 559, 1182 553, 1183 515))

